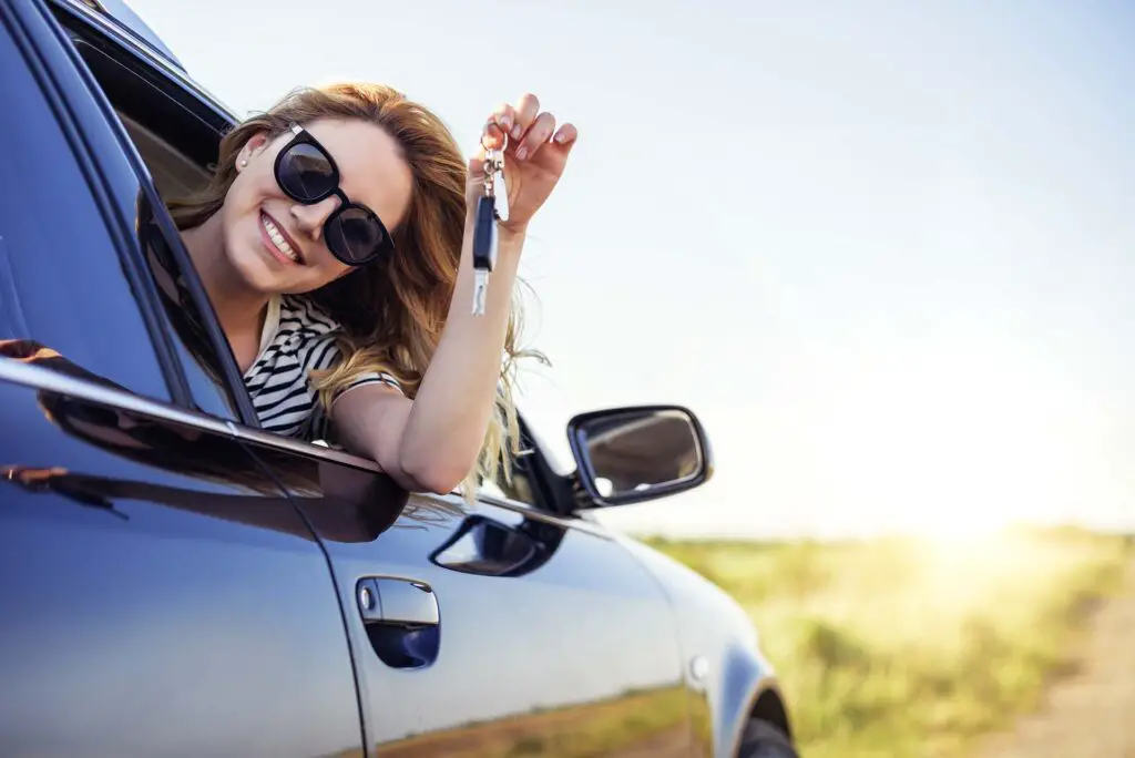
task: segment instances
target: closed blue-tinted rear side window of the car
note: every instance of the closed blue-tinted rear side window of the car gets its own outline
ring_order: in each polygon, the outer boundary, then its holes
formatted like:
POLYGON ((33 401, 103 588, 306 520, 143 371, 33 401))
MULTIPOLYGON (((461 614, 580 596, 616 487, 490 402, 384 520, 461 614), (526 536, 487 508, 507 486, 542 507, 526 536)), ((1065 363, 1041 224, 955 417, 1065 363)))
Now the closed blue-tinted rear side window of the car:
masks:
MULTIPOLYGON (((90 165, 0 34, 0 347, 9 360, 82 367, 82 376, 169 401, 143 318, 100 205, 90 165), (18 113, 18 115, 17 115, 18 113)), ((66 369, 64 369, 66 370, 66 369)))

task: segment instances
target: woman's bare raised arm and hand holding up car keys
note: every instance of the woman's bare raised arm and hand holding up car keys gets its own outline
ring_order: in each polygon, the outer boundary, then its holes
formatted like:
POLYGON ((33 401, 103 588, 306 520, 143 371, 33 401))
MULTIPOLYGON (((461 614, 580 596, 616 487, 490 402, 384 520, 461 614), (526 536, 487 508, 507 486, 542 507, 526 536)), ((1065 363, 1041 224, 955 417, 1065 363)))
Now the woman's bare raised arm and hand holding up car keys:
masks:
POLYGON ((565 124, 556 130, 554 117, 538 111, 535 95, 524 95, 515 108, 498 109, 486 133, 493 148, 504 144, 504 134, 513 126, 522 136, 510 140, 506 152, 510 218, 498 227, 499 247, 485 313, 472 314, 473 209, 481 193, 482 166, 478 157, 470 162, 469 212, 456 288, 415 398, 372 384, 346 393, 331 409, 346 447, 373 458, 411 491, 453 490, 476 465, 485 441, 528 221, 558 182, 577 137, 573 126, 565 124))

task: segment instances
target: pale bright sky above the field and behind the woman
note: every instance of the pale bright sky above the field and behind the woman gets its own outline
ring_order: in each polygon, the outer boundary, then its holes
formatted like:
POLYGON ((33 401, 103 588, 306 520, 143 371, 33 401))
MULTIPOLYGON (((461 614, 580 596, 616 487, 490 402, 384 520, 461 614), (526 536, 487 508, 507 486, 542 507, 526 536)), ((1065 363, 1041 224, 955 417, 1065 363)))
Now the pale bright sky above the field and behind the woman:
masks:
POLYGON ((1135 529, 1135 6, 128 0, 237 116, 365 79, 472 151, 580 130, 530 226, 522 411, 688 406, 649 533, 1135 529))

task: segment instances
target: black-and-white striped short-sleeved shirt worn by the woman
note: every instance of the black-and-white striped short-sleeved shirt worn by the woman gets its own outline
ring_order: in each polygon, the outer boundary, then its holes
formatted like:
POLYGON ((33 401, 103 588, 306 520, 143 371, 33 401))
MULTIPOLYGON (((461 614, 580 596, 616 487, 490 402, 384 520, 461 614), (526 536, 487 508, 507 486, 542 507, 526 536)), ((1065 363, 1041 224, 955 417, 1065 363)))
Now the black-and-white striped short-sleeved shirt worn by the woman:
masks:
MULTIPOLYGON (((277 295, 269 302, 260 352, 244 372, 244 385, 266 431, 308 441, 331 439, 330 420, 310 376, 343 360, 335 339, 338 332, 339 325, 305 297, 277 295)), ((401 389, 388 373, 364 373, 335 399, 370 384, 401 389)))

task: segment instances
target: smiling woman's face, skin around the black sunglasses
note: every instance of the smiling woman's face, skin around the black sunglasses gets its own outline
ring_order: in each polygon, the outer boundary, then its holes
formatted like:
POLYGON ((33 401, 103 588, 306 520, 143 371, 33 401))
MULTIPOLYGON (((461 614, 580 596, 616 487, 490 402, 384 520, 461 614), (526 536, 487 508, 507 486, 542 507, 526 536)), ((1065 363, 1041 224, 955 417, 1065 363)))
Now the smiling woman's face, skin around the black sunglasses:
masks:
MULTIPOLYGON (((359 120, 319 120, 304 128, 338 165, 339 188, 351 202, 371 209, 392 231, 402 224, 412 175, 392 136, 359 120)), ((323 222, 340 201, 330 196, 304 205, 276 182, 276 155, 292 136, 269 140, 261 134, 245 144, 220 213, 229 262, 250 288, 266 294, 311 292, 352 270, 323 239, 323 222)))

